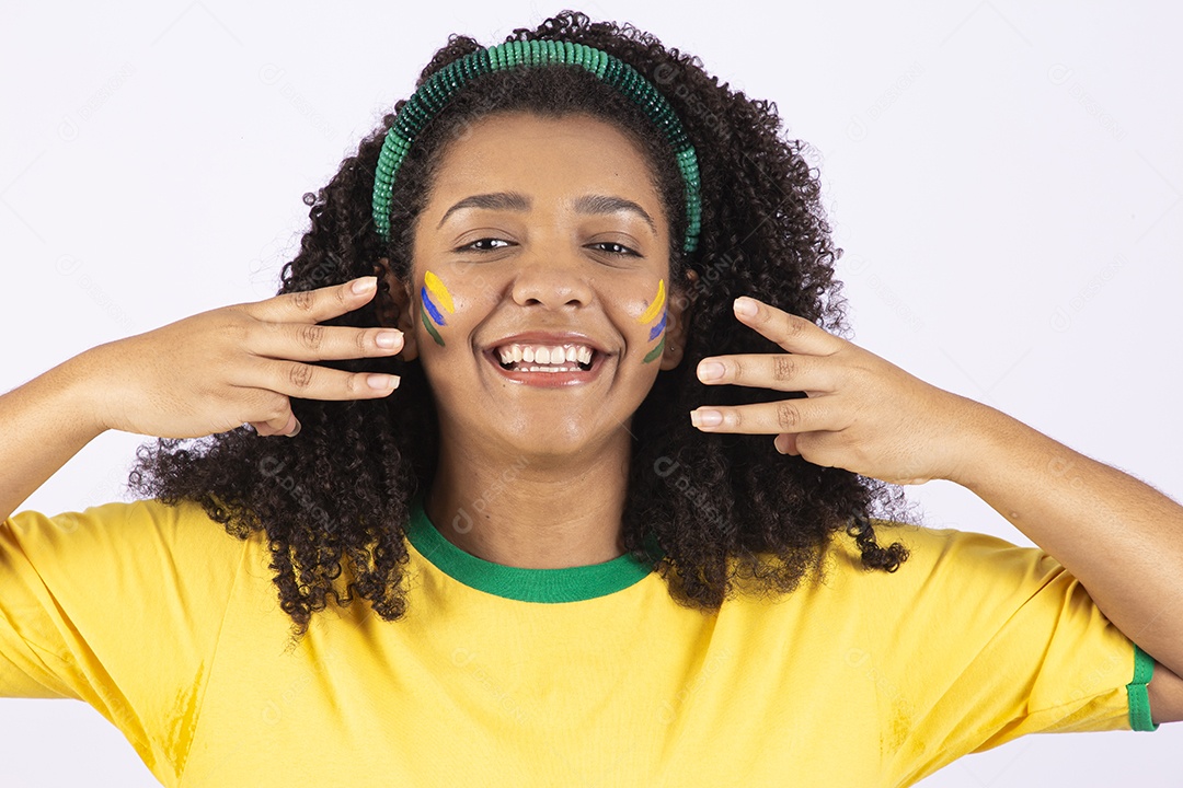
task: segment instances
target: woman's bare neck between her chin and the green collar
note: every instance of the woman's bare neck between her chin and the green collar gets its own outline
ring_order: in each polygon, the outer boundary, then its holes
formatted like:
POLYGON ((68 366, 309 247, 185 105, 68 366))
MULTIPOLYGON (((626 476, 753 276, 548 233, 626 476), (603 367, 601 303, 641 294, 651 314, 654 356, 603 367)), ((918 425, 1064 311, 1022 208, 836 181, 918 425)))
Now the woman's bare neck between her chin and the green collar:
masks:
POLYGON ((504 566, 557 569, 625 554, 629 436, 580 456, 486 455, 441 439, 427 516, 450 542, 504 566))

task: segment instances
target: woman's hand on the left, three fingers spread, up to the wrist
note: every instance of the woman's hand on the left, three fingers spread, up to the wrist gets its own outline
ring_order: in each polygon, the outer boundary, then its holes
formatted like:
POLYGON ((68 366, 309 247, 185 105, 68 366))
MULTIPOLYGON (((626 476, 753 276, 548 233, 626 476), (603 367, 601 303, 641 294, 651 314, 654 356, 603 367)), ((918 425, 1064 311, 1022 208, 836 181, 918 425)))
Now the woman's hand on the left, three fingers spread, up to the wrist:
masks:
POLYGON ((106 429, 195 438, 250 422, 259 435, 295 435, 289 397, 375 399, 397 388, 397 376, 309 363, 402 350, 395 328, 317 325, 369 301, 376 281, 362 276, 202 312, 73 360, 106 429))

